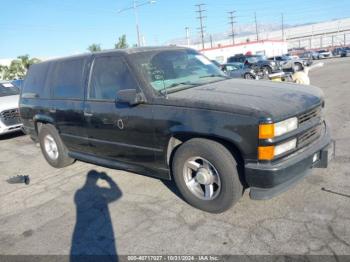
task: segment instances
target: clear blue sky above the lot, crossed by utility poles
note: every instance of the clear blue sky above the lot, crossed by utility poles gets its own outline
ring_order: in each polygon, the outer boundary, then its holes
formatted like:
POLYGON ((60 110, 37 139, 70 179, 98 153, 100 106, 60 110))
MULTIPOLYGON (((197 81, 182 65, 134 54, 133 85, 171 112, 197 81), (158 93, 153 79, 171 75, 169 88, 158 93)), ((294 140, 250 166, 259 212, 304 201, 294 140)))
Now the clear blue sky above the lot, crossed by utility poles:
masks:
MULTIPOLYGON (((85 52, 92 43, 112 48, 126 34, 136 40, 132 0, 0 0, 0 58, 22 54, 52 57, 85 52)), ((139 0, 139 3, 147 1, 139 0)), ((208 33, 228 29, 228 11, 236 10, 236 22, 286 24, 317 22, 350 16, 350 0, 157 0, 138 8, 140 29, 147 45, 160 45, 183 37, 185 27, 197 34, 195 4, 205 3, 208 33)))

